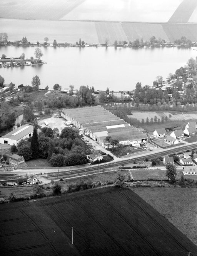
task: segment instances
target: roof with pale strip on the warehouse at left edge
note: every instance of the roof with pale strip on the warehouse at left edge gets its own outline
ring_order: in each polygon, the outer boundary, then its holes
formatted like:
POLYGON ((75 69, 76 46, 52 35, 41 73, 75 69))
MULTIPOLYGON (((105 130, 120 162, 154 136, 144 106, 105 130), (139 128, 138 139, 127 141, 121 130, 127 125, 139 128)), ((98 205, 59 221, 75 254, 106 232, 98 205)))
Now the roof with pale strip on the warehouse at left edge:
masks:
POLYGON ((14 139, 18 141, 19 139, 22 139, 24 136, 27 136, 27 134, 30 134, 33 132, 33 125, 25 124, 21 125, 17 129, 13 130, 12 132, 9 132, 8 134, 4 135, 4 139, 14 139))

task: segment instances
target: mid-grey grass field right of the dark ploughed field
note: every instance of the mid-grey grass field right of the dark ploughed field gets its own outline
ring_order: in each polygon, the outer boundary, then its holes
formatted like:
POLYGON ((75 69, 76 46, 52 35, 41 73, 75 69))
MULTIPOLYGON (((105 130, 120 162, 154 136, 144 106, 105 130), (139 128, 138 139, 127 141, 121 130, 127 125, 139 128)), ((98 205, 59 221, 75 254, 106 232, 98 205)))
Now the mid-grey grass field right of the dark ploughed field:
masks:
POLYGON ((197 188, 132 188, 197 245, 197 188))

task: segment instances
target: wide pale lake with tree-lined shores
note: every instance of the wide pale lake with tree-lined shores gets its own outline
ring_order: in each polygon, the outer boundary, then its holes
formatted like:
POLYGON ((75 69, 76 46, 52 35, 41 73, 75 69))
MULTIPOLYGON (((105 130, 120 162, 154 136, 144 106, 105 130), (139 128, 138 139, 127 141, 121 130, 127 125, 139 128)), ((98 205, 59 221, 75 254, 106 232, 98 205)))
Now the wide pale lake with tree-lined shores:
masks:
MULTIPOLYGON (((38 75, 40 88, 55 83, 78 89, 81 85, 94 86, 95 90, 133 90, 140 81, 152 85, 156 76, 164 79, 169 73, 184 66, 187 60, 197 56, 195 47, 117 48, 114 47, 40 47, 42 60, 47 64, 0 68, 5 83, 31 85, 32 77, 38 75)), ((0 56, 26 58, 34 56, 35 47, 0 47, 0 56)))

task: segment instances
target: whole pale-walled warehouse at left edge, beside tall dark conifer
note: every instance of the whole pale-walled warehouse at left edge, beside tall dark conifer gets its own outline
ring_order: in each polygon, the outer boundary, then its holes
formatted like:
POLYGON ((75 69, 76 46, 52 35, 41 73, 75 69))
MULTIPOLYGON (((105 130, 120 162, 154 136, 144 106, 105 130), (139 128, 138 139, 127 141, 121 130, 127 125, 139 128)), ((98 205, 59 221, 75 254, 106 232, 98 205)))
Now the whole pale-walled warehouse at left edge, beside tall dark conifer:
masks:
POLYGON ((0 137, 1 144, 17 145, 22 139, 32 137, 33 125, 25 124, 0 137))

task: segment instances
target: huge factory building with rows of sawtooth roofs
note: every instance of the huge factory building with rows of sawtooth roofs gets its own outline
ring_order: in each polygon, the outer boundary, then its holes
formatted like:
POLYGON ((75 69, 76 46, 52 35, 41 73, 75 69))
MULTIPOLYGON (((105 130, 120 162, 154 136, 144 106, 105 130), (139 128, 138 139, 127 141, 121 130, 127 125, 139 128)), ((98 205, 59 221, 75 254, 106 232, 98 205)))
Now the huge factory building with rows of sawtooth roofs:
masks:
POLYGON ((118 139, 123 145, 132 146, 140 146, 142 140, 147 140, 145 133, 101 106, 63 109, 61 116, 105 148, 112 147, 109 141, 105 140, 107 136, 118 139))

